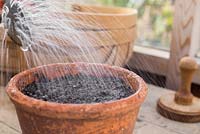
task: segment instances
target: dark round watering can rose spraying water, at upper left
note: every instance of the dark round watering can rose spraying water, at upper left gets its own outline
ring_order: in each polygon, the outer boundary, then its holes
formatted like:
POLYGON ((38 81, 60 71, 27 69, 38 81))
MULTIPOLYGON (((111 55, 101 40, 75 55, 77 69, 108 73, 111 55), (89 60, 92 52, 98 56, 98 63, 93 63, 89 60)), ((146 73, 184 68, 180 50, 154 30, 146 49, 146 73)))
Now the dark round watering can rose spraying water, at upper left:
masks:
POLYGON ((4 0, 2 22, 8 30, 9 37, 19 46, 27 48, 31 32, 25 12, 22 8, 23 0, 4 0), (25 43, 26 42, 26 43, 25 43))

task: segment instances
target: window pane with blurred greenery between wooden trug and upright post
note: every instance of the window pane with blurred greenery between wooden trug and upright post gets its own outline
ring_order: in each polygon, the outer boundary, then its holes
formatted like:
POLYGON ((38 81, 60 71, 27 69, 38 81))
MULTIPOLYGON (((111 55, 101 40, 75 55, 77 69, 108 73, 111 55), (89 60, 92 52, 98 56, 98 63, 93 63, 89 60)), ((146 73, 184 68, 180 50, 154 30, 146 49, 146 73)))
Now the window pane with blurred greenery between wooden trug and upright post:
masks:
POLYGON ((138 9, 136 44, 170 49, 175 0, 97 0, 106 5, 138 9))

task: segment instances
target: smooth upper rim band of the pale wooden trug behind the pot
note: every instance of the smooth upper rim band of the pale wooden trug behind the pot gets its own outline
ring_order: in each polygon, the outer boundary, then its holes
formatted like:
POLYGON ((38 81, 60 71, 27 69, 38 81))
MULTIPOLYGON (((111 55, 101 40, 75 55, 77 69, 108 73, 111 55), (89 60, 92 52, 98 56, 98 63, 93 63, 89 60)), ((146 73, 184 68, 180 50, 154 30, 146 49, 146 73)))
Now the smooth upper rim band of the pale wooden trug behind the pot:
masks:
POLYGON ((89 28, 88 27, 86 28, 83 24, 79 24, 79 23, 73 24, 75 26, 83 25, 85 30, 130 29, 130 28, 136 27, 136 20, 137 20, 137 14, 138 14, 137 10, 133 8, 109 7, 109 6, 99 6, 99 5, 97 6, 97 5, 89 5, 89 4, 73 4, 72 11, 52 12, 52 15, 55 15, 56 17, 58 17, 57 15, 58 13, 61 15, 60 17, 68 17, 69 19, 79 20, 81 22, 87 22, 87 25, 89 26, 89 28), (76 8, 77 8, 77 11, 76 11, 76 8), (96 12, 92 12, 92 10, 91 12, 85 11, 85 8, 94 9, 96 10, 96 12), (106 13, 103 10, 106 10, 106 11, 112 10, 113 13, 112 12, 106 13), (91 19, 95 21, 91 21, 91 19), (112 19, 115 19, 115 21, 110 21, 112 19), (98 24, 100 27, 96 27, 96 24, 98 24))

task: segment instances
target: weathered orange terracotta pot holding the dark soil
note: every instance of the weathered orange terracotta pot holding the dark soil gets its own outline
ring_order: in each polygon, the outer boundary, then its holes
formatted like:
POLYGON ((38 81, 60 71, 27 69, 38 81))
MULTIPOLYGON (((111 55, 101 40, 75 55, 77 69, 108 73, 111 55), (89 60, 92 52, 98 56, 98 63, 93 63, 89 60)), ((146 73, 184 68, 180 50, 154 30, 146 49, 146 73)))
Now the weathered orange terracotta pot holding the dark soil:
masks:
POLYGON ((11 79, 7 93, 16 107, 23 134, 132 134, 140 105, 147 94, 147 86, 138 75, 120 67, 72 63, 24 71, 11 79), (102 73, 96 72, 96 69, 102 73), (48 70, 48 73, 44 70, 48 70), (58 72, 62 72, 62 75, 58 72), (44 73, 52 79, 80 72, 95 73, 99 77, 112 72, 129 83, 136 93, 106 103, 58 104, 30 98, 21 92, 24 86, 37 80, 37 74, 44 73))

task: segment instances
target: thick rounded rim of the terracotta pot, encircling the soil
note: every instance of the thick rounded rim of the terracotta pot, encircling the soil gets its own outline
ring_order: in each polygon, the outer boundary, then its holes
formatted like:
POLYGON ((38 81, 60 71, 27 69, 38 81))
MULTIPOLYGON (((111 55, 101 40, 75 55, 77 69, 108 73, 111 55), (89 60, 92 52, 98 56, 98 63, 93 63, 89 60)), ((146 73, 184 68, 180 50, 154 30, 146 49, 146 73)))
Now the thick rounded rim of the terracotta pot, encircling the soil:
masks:
MULTIPOLYGON (((137 74, 134 72, 131 72, 129 70, 117 67, 117 66, 111 66, 106 64, 97 64, 97 63, 83 63, 83 62, 77 62, 77 63, 56 63, 56 64, 50 64, 50 65, 44 65, 35 67, 26 71, 23 71, 16 76, 14 76, 6 88, 7 94, 10 97, 10 99, 13 101, 15 106, 17 108, 23 108, 25 111, 33 112, 35 114, 40 114, 41 111, 43 112, 43 116, 56 116, 59 117, 58 113, 62 116, 70 119, 74 118, 97 118, 97 116, 107 115, 108 112, 116 111, 119 109, 125 109, 133 107, 139 107, 141 103, 144 101, 146 95, 147 95, 147 85, 143 81, 142 78, 140 78, 137 74), (137 92, 127 98, 123 98, 120 100, 114 100, 114 101, 108 101, 105 103, 91 103, 91 104, 61 104, 61 103, 55 103, 55 102, 46 102, 38 99, 34 99, 31 97, 28 97, 24 95, 17 87, 18 81, 26 76, 27 74, 33 73, 37 70, 41 70, 44 67, 59 67, 59 66, 101 66, 108 69, 114 69, 121 72, 126 72, 128 75, 127 77, 132 77, 136 80, 138 84, 137 92), (102 111, 103 110, 103 111, 102 111), (55 114, 56 113, 56 114, 55 114), (80 114, 85 113, 85 114, 80 114), (97 114, 98 113, 98 114, 97 114)), ((109 116, 109 114, 108 114, 109 116)))

